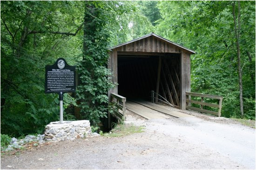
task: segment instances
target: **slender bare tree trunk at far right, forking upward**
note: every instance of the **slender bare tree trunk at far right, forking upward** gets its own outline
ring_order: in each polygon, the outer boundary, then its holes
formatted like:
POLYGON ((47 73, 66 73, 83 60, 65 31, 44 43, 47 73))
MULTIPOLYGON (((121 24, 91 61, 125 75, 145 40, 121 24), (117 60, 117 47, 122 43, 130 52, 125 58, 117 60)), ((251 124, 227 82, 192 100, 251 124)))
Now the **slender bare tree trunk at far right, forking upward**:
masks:
POLYGON ((243 117, 243 84, 242 84, 242 69, 241 69, 241 57, 240 57, 240 1, 238 1, 238 28, 236 28, 236 13, 235 13, 236 1, 233 1, 233 19, 236 35, 236 50, 237 50, 237 66, 239 73, 239 99, 240 99, 240 113, 243 117))

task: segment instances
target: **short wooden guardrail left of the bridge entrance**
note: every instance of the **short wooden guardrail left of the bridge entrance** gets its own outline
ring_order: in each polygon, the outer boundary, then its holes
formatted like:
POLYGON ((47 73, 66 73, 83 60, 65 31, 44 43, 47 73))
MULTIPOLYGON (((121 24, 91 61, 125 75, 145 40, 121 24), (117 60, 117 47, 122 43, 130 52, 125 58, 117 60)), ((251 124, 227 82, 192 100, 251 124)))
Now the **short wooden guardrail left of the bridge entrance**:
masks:
POLYGON ((115 93, 111 93, 111 103, 113 105, 113 110, 114 110, 114 113, 112 113, 112 115, 115 116, 118 120, 122 120, 122 121, 126 120, 125 102, 126 102, 125 97, 115 93))

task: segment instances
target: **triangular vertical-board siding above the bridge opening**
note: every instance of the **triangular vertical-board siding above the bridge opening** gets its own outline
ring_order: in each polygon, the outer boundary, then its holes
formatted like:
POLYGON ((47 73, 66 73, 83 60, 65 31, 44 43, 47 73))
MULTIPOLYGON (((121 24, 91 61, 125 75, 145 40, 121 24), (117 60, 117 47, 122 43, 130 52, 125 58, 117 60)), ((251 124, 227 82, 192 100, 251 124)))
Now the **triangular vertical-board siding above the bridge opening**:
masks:
MULTIPOLYGON (((114 49, 113 49, 114 50, 114 49)), ((181 53, 182 48, 163 41, 155 36, 140 39, 138 41, 117 47, 118 52, 157 52, 157 53, 181 53)))

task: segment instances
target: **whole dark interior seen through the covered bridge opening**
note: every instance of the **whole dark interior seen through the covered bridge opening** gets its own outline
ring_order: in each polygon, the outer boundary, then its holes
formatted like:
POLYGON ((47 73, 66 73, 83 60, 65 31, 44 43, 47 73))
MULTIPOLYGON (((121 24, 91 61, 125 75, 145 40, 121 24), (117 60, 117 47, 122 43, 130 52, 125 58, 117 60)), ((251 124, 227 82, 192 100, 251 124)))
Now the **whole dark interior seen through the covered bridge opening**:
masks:
MULTIPOLYGON (((159 94, 179 105, 175 95, 180 98, 178 80, 180 54, 168 54, 161 58, 159 94)), ((128 99, 150 101, 151 90, 156 90, 158 62, 159 56, 118 56, 118 94, 128 99)))

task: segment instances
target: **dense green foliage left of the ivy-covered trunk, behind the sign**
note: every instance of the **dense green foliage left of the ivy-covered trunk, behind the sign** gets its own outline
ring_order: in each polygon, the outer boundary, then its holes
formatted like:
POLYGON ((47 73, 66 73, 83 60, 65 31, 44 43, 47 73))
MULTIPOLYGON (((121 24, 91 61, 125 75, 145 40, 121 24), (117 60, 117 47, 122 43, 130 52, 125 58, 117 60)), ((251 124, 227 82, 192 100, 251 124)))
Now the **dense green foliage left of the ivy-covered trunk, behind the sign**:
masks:
MULTIPOLYGON (((45 65, 63 56, 76 63, 78 39, 53 32, 77 29, 79 3, 1 1, 1 132, 42 133, 58 121, 58 97, 44 93, 45 65)), ((74 98, 65 94, 64 108, 70 104, 75 105, 74 98)))

